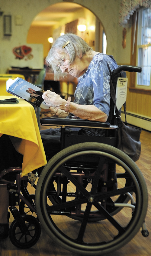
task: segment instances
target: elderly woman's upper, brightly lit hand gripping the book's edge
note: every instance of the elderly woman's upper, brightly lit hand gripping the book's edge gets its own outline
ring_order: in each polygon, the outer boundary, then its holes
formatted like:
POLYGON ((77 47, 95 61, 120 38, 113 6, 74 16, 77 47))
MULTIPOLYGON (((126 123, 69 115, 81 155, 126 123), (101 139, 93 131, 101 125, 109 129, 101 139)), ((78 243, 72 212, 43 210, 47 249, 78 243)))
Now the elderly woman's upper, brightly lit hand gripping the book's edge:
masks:
POLYGON ((60 97, 60 95, 56 94, 53 91, 45 91, 42 95, 42 98, 45 100, 47 105, 52 107, 65 110, 66 100, 60 97))

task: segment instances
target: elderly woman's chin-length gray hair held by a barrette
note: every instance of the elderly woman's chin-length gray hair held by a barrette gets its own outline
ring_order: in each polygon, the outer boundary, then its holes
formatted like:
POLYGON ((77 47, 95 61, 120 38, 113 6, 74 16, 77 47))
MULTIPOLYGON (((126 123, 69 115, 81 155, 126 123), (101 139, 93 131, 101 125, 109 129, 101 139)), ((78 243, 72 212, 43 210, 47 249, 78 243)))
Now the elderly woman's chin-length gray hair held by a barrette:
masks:
POLYGON ((58 60, 62 58, 63 55, 67 52, 69 53, 69 64, 71 64, 74 62, 76 56, 83 56, 90 49, 92 48, 78 35, 67 33, 57 38, 46 57, 46 64, 53 70, 54 79, 57 80, 66 76, 66 73, 58 73, 56 71, 58 60), (69 43, 63 48, 68 41, 69 43))

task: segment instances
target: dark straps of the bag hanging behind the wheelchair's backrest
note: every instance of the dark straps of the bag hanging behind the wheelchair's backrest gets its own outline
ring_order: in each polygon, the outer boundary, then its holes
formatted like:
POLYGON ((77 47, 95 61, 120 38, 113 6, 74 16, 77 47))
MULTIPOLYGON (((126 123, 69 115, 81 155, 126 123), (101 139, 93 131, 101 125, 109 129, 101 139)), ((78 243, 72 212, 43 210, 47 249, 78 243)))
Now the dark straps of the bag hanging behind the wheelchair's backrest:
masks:
MULTIPOLYGON (((110 95, 111 95, 111 98, 112 98, 112 100, 114 102, 114 105, 115 105, 115 115, 116 115, 116 118, 117 118, 118 126, 121 127, 122 126, 122 120, 121 120, 121 116, 120 116, 120 111, 118 110, 118 108, 116 106, 115 89, 114 89, 114 85, 113 85, 113 82, 111 80, 111 77, 110 77, 110 95)), ((127 125, 126 102, 123 105, 124 105, 124 114, 125 114, 125 125, 127 125)))

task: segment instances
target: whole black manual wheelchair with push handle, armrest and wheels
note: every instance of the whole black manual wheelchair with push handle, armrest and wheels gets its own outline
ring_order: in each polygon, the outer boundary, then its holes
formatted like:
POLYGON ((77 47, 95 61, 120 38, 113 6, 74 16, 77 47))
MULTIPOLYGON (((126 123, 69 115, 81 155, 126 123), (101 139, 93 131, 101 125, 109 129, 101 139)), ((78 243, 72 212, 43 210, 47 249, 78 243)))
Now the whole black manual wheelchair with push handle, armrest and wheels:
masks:
MULTIPOLYGON (((138 67, 120 66, 112 73, 115 87, 123 70, 140 72, 138 67)), ((113 112, 111 102, 106 123, 40 120, 42 125, 61 127, 61 139, 57 141, 60 151, 50 160, 48 155, 36 186, 37 174, 20 178, 21 168, 6 170, 17 172, 16 184, 7 185, 15 219, 10 226, 10 240, 16 247, 33 246, 40 237, 40 225, 65 249, 87 256, 117 250, 141 227, 143 236, 148 236, 144 221, 146 183, 134 161, 116 148, 118 126, 113 112), (66 127, 104 129, 105 137, 78 135, 66 127), (28 182, 36 188, 35 196, 29 195, 28 182)))

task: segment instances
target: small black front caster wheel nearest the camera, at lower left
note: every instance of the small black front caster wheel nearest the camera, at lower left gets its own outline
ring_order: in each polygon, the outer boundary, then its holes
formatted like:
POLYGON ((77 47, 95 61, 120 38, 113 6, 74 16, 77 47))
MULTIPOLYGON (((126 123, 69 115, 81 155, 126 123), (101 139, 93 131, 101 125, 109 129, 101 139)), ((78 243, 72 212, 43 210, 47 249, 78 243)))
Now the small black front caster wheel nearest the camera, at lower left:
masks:
POLYGON ((18 220, 15 219, 9 229, 9 238, 17 248, 26 249, 37 243, 40 238, 41 227, 36 218, 31 215, 22 215, 21 218, 25 222, 29 233, 25 234, 18 220))

